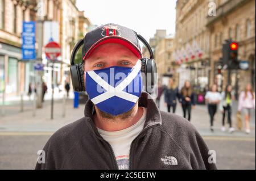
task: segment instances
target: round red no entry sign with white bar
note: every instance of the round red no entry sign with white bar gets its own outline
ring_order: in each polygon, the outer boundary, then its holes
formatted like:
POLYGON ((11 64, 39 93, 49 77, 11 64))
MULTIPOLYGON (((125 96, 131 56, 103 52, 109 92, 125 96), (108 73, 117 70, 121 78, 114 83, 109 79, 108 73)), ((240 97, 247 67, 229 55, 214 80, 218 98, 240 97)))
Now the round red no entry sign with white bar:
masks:
POLYGON ((50 60, 55 60, 61 54, 61 48, 55 41, 49 42, 45 47, 46 57, 50 60))

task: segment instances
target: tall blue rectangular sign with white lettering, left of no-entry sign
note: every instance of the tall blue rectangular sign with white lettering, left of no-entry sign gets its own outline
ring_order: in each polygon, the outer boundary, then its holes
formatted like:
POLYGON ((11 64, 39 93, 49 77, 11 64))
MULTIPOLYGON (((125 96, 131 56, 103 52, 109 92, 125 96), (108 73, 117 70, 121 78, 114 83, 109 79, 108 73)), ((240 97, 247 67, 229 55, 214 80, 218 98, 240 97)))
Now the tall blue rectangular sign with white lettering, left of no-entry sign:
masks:
POLYGON ((23 22, 22 24, 22 59, 35 60, 35 22, 23 22))

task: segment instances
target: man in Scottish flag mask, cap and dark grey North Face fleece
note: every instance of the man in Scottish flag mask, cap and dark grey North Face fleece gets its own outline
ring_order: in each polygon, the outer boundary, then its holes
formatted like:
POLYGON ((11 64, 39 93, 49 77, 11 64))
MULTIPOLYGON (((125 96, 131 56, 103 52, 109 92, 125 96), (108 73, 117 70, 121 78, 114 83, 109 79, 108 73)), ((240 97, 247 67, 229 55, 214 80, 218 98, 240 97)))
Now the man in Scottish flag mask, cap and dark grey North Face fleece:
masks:
POLYGON ((46 163, 36 169, 216 169, 192 124, 159 111, 142 92, 133 30, 98 27, 86 34, 82 51, 90 98, 85 116, 49 138, 46 163))

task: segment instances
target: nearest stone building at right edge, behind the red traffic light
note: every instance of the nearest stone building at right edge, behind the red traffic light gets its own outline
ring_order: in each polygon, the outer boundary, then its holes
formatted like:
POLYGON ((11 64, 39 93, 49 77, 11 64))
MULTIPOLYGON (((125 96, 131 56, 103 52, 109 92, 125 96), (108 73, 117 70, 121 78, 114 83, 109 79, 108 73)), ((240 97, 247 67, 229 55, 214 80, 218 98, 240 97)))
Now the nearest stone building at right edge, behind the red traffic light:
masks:
POLYGON ((222 57, 222 44, 227 39, 237 41, 238 59, 248 60, 249 70, 232 70, 230 84, 237 94, 251 83, 255 90, 255 1, 217 1, 216 16, 208 16, 210 31, 210 83, 217 83, 222 90, 228 84, 227 70, 218 73, 218 61, 222 57))

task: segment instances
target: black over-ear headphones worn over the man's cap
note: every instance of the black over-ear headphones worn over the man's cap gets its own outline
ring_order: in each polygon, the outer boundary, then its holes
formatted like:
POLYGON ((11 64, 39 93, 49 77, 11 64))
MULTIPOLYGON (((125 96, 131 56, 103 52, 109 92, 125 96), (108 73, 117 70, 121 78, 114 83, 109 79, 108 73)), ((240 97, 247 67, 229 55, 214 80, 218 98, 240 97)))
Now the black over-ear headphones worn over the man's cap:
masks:
MULTIPOLYGON (((142 72, 142 78, 143 78, 145 90, 151 94, 154 91, 154 85, 157 83, 156 82, 157 69, 154 61, 154 53, 150 45, 141 35, 137 34, 137 37, 147 47, 150 53, 150 58, 141 59, 141 72, 142 72)), ((71 68, 70 68, 71 79, 72 79, 73 90, 77 92, 85 91, 84 63, 82 62, 79 64, 75 64, 76 53, 83 43, 84 43, 84 39, 79 40, 79 42, 73 48, 73 51, 71 54, 71 68)))

